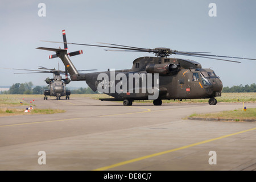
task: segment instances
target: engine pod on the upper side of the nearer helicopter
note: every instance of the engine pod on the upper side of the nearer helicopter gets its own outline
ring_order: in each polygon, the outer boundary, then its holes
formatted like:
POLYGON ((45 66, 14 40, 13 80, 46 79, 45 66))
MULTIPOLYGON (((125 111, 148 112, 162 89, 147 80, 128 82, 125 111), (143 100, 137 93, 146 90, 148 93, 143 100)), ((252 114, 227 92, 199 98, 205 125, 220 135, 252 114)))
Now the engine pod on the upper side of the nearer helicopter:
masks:
POLYGON ((159 73, 160 76, 175 75, 179 64, 149 64, 146 67, 147 73, 159 73))

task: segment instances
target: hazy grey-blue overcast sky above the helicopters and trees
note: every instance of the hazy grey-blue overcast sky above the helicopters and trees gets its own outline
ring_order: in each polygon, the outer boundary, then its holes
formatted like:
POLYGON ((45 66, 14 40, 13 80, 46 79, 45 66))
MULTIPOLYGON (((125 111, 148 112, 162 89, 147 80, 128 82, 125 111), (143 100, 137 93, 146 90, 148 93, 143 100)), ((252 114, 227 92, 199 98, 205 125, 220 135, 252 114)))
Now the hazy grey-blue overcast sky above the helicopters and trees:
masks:
MULTIPOLYGON (((168 47, 178 51, 202 51, 216 55, 256 59, 255 0, 93 0, 93 1, 0 1, 1 68, 38 69, 39 66, 64 70, 60 59, 48 59, 54 52, 36 47, 63 48, 63 44, 40 40, 97 44, 106 42, 134 47, 168 47), (216 15, 209 16, 209 4, 216 3, 216 15), (39 3, 45 3, 46 16, 40 17, 39 3)), ((68 52, 82 49, 84 54, 71 60, 77 69, 129 69, 133 60, 152 53, 110 52, 104 48, 68 45, 68 52)), ((230 63, 199 57, 192 59, 203 68, 213 68, 224 86, 255 83, 256 61, 230 63)), ((240 60, 238 60, 240 61, 240 60)), ((0 69, 0 85, 32 81, 46 86, 47 74, 15 75, 0 69)), ((69 87, 85 87, 85 81, 69 87)))

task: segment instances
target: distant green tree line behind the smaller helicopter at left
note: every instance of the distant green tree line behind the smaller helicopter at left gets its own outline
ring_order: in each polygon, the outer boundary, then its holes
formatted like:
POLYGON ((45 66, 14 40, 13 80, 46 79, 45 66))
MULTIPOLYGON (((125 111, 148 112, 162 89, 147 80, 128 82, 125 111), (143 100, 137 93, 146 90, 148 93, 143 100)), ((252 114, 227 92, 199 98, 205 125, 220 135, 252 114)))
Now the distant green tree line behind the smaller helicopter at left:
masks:
MULTIPOLYGON (((49 89, 48 86, 35 86, 34 88, 32 82, 25 82, 24 84, 16 83, 13 84, 9 90, 1 91, 0 94, 44 94, 45 89, 49 89)), ((92 89, 79 88, 71 90, 71 94, 93 94, 98 93, 93 92, 92 89)))

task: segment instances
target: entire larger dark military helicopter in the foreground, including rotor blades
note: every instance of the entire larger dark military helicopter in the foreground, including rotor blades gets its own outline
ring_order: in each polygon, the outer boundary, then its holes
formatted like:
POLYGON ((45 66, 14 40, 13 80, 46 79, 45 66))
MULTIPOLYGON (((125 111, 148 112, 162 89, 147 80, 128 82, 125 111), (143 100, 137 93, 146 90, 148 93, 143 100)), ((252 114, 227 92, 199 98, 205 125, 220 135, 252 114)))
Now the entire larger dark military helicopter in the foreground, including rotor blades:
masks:
MULTIPOLYGON (((196 98, 209 98, 209 105, 217 104, 215 97, 221 97, 223 87, 220 77, 218 77, 212 69, 202 68, 201 64, 197 61, 170 58, 168 57, 170 55, 203 57, 207 59, 231 61, 233 63, 241 62, 227 60, 226 58, 256 60, 243 57, 210 55, 209 52, 176 51, 162 47, 150 49, 101 43, 107 44, 107 46, 103 46, 67 43, 66 39, 64 42, 44 42, 64 43, 64 47, 67 47, 67 44, 73 44, 114 48, 106 49, 106 51, 155 53, 156 57, 146 56, 135 59, 131 69, 114 72, 108 70, 105 72, 80 73, 69 59, 67 50, 47 47, 37 48, 56 52, 54 57, 59 57, 61 61, 63 61, 72 81, 85 80, 86 84, 88 84, 94 92, 96 90, 104 90, 103 93, 113 97, 101 98, 101 101, 123 101, 123 105, 125 106, 132 105, 135 100, 153 100, 154 105, 162 105, 162 100, 187 100, 196 98), (135 77, 138 79, 135 79, 135 82, 130 82, 130 75, 136 75, 135 77), (154 83, 150 85, 148 84, 148 80, 151 80, 151 82, 154 80, 154 83), (127 86, 128 82, 129 87, 127 86), (145 82, 146 84, 144 84, 145 82), (154 90, 154 92, 152 92, 152 90, 154 90), (156 97, 154 97, 155 93, 157 93, 156 97)), ((131 80, 133 78, 131 78, 131 80)))

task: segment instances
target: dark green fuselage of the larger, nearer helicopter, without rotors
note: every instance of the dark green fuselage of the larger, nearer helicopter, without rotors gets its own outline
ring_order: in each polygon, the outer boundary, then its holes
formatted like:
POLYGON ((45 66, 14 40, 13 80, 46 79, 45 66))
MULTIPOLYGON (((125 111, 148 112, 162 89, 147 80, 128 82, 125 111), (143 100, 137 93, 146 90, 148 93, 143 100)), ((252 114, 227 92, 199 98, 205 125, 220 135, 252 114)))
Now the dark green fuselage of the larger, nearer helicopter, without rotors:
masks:
MULTIPOLYGON (((155 93, 148 92, 149 90, 145 89, 145 86, 146 88, 155 88, 156 84, 158 89, 155 92, 158 92, 158 97, 153 100, 214 98, 221 96, 222 90, 222 82, 212 69, 203 69, 200 63, 193 60, 166 57, 139 57, 134 60, 131 69, 71 75, 71 79, 85 80, 93 91, 99 91, 99 88, 102 88, 104 93, 114 97, 114 100, 130 102, 150 100, 148 96, 155 93), (118 76, 120 74, 125 77, 121 78, 118 76), (108 78, 99 78, 100 75, 105 75, 108 78), (137 82, 135 80, 129 87, 129 76, 131 75, 137 75, 138 80, 137 82), (151 78, 156 75, 158 76, 156 81, 152 81, 152 85, 147 85, 148 76, 151 78), (143 82, 146 82, 146 85, 143 82), (120 85, 122 86, 120 87, 120 85), (135 90, 136 86, 137 90, 135 90), (118 88, 123 89, 123 92, 120 92, 118 88), (144 92, 142 92, 143 89, 144 92)), ((212 102, 211 105, 214 104, 216 103, 212 102)))

